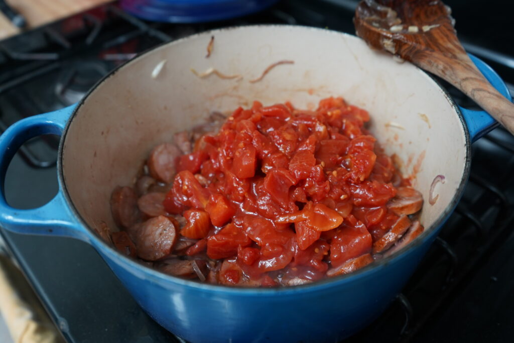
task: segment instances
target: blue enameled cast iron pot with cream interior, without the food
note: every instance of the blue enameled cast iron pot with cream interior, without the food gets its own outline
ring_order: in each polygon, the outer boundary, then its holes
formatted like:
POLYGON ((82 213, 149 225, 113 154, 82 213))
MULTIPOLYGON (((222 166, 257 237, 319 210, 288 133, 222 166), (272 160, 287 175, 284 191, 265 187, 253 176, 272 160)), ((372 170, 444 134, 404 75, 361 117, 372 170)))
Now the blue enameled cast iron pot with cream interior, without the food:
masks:
MULTIPOLYGON (((506 97, 505 84, 479 59, 473 62, 506 97)), ((510 99, 510 97, 509 97, 510 99)), ((60 190, 36 209, 9 207, 4 189, 0 224, 8 230, 80 239, 99 252, 141 307, 166 329, 193 342, 336 341, 376 318, 401 290, 461 197, 468 178, 470 143, 494 121, 455 105, 427 74, 372 51, 360 39, 299 26, 248 26, 215 30, 159 46, 99 82, 77 105, 23 119, 0 138, 0 176, 23 142, 61 135, 60 190), (212 55, 206 48, 214 35, 212 55), (250 83, 280 60, 263 80, 250 83), (166 61, 160 73, 153 71, 166 61), (242 79, 200 78, 210 67, 242 79), (95 233, 115 228, 109 197, 130 185, 150 149, 203 122, 211 111, 291 101, 312 109, 343 96, 368 110, 370 129, 386 152, 416 172, 425 203, 426 230, 408 247, 351 275, 286 288, 230 288, 161 274, 131 260, 95 233), (424 120, 425 119, 425 120, 424 120), (430 205, 437 175, 439 194, 430 205)), ((3 185, 3 182, 2 182, 3 185)))

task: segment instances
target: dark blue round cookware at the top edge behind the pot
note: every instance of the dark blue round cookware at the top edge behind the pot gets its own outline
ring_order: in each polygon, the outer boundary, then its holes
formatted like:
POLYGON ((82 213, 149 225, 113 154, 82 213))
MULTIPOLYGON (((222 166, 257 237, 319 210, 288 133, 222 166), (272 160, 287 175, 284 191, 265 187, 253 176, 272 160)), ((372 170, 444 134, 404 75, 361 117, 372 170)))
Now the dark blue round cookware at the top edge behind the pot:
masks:
POLYGON ((260 11, 277 0, 121 0, 121 7, 142 19, 170 23, 224 20, 260 11))

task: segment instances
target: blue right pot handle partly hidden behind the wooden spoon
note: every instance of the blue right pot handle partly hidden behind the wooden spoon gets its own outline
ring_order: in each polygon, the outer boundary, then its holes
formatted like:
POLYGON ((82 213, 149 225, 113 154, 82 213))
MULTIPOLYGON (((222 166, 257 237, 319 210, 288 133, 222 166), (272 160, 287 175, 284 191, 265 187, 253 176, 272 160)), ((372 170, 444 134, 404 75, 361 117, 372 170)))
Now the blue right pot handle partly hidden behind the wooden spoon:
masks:
MULTIPOLYGON (((494 86, 494 88, 500 92, 501 95, 506 97, 509 101, 512 101, 509 88, 496 73, 496 71, 494 71, 489 65, 487 65, 478 57, 475 57, 470 53, 468 53, 468 55, 471 58, 471 61, 473 61, 476 67, 478 67, 481 73, 485 76, 487 81, 489 81, 494 86)), ((465 109, 462 106, 458 107, 461 109, 461 113, 464 117, 464 120, 466 121, 469 136, 472 142, 481 138, 499 125, 499 123, 485 111, 473 111, 465 109)))

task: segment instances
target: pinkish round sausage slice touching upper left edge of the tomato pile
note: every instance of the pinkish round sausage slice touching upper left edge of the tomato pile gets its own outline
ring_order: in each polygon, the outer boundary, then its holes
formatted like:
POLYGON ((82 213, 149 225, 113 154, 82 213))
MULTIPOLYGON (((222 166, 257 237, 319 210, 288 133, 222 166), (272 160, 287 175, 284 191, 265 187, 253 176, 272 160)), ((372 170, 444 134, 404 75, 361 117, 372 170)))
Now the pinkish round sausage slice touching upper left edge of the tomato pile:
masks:
POLYGON ((163 143, 156 146, 147 162, 150 175, 164 183, 171 183, 175 176, 177 157, 180 155, 180 149, 174 144, 163 143))

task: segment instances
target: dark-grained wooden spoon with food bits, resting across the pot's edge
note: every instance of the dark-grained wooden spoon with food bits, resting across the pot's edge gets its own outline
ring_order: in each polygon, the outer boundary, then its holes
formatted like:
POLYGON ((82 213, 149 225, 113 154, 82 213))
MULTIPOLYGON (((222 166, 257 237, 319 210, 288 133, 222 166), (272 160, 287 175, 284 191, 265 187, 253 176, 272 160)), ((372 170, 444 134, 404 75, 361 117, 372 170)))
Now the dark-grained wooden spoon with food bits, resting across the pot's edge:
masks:
POLYGON ((445 79, 514 134, 514 104, 471 62, 448 6, 439 0, 363 0, 354 23, 369 45, 445 79))

